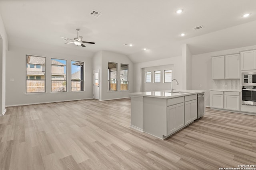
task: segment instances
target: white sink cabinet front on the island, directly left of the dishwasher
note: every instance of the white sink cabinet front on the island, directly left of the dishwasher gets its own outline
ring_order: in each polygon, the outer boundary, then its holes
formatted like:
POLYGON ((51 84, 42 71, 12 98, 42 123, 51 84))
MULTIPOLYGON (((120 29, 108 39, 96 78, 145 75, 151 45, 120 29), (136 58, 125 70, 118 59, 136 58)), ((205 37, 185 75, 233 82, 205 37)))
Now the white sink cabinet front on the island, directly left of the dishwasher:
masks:
POLYGON ((185 102, 185 125, 197 119, 197 99, 185 102))

